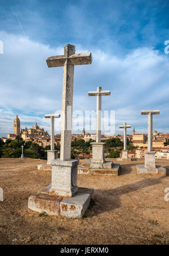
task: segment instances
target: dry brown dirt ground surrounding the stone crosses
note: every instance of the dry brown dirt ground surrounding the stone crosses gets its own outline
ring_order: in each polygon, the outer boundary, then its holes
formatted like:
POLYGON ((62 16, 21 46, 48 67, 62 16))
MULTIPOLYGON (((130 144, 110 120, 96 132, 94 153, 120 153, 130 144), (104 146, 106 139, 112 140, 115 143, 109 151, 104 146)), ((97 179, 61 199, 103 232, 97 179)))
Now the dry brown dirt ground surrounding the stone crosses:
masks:
MULTIPOLYGON (((78 176, 78 186, 95 189, 95 206, 81 219, 39 216, 28 198, 51 183, 38 172, 37 159, 0 159, 0 244, 169 244, 169 176, 136 174, 136 164, 121 163, 121 175, 78 176)), ((157 160, 167 167, 169 161, 157 160)))

